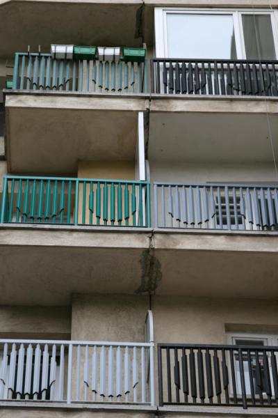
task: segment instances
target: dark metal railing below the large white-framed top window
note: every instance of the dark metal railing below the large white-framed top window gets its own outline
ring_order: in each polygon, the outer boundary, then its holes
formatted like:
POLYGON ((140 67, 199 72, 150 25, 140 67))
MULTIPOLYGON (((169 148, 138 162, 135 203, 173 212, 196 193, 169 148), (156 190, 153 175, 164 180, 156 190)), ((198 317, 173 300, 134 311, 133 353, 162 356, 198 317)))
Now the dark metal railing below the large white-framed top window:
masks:
POLYGON ((278 61, 152 59, 152 93, 278 95, 278 61))

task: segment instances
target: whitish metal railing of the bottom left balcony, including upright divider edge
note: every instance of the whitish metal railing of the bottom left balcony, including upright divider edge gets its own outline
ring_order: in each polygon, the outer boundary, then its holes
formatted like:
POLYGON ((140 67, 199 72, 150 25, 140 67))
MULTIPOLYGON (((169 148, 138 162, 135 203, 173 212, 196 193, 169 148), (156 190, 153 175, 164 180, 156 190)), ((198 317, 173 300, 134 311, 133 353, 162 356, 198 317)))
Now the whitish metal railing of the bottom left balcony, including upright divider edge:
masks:
POLYGON ((154 405, 154 330, 145 343, 0 340, 0 400, 154 405))

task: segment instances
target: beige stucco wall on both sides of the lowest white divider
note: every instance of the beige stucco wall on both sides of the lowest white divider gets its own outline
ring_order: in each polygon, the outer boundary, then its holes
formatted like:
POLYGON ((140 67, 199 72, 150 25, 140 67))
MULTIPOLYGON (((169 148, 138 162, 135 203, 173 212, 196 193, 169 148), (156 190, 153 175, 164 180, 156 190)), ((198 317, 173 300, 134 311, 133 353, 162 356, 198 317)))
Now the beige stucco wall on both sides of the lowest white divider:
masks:
MULTIPOLYGON (((149 297, 73 295, 72 339, 144 341, 149 297)), ((154 338, 165 343, 227 343, 227 332, 278 334, 278 302, 152 296, 154 338)))

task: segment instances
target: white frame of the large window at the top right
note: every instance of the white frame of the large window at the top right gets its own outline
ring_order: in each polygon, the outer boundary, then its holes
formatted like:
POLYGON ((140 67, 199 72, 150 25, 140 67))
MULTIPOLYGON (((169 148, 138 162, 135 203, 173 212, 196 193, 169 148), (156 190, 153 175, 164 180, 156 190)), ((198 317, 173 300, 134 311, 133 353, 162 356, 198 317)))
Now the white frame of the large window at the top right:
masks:
MULTIPOLYGON (((243 37, 242 15, 270 15, 272 24, 272 33, 275 45, 276 59, 278 59, 278 10, 265 10, 256 8, 256 10, 247 8, 236 10, 234 8, 208 9, 208 8, 155 8, 154 10, 154 31, 155 31, 155 51, 157 58, 168 58, 167 51, 167 14, 200 14, 200 15, 232 15, 234 19, 234 33, 236 40, 237 59, 246 59, 245 43, 243 37)), ((176 58, 181 58, 177 56, 176 58)), ((188 59, 192 56, 186 57, 188 59)), ((200 57, 202 58, 202 57, 200 57)))

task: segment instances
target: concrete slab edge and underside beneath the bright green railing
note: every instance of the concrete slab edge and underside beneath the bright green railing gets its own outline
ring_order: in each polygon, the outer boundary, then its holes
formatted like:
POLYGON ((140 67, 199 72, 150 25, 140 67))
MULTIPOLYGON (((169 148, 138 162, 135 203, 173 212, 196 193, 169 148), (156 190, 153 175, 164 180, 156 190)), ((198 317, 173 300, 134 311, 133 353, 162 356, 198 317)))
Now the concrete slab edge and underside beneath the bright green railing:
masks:
POLYGON ((68 305, 72 293, 135 293, 145 231, 1 229, 0 304, 68 305))

